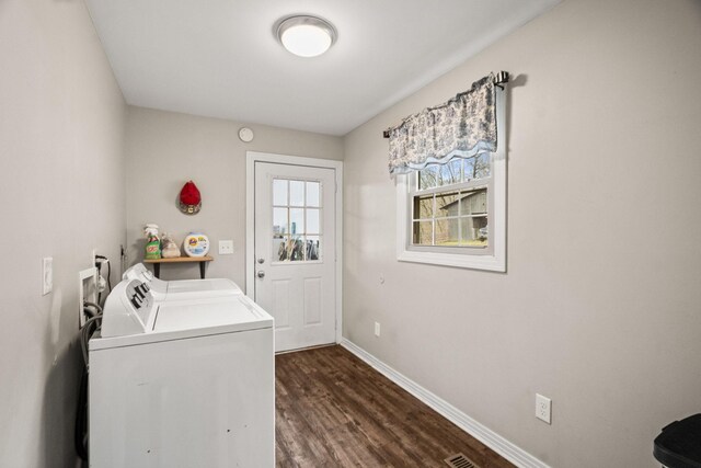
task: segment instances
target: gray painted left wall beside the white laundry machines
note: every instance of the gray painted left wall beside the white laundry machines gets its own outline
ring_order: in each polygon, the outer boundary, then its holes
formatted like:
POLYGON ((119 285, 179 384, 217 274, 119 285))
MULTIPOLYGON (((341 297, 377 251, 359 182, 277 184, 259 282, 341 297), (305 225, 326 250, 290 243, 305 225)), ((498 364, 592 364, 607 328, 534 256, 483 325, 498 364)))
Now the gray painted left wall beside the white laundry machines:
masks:
POLYGON ((0 57, 0 466, 69 467, 78 272, 93 248, 118 270, 126 105, 82 1, 1 1, 0 57))

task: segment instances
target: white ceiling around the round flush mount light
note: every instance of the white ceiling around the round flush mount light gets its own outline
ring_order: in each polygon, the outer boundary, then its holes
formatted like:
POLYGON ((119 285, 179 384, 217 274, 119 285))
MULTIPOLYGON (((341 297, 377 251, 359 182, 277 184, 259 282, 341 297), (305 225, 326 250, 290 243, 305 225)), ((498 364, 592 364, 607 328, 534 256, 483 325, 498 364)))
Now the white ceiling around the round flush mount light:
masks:
POLYGON ((129 104, 330 135, 560 1, 85 0, 129 104), (299 13, 335 25, 330 52, 300 58, 277 43, 274 24, 299 13))

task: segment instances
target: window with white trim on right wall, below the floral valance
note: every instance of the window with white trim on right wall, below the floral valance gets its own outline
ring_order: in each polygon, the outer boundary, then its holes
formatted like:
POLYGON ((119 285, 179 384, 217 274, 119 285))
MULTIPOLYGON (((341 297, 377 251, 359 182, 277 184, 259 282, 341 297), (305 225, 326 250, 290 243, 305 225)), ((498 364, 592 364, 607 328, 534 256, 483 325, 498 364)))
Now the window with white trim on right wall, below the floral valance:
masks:
POLYGON ((497 150, 397 176, 398 260, 506 271, 504 95, 497 150))

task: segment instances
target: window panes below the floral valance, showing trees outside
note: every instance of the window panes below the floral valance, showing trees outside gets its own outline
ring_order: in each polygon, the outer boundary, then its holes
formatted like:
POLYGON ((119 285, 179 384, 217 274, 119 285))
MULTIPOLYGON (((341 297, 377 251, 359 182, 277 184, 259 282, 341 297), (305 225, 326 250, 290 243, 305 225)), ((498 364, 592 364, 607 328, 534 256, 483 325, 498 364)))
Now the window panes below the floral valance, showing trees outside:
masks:
POLYGON ((490 176, 490 153, 418 171, 412 190, 412 243, 487 247, 490 176))

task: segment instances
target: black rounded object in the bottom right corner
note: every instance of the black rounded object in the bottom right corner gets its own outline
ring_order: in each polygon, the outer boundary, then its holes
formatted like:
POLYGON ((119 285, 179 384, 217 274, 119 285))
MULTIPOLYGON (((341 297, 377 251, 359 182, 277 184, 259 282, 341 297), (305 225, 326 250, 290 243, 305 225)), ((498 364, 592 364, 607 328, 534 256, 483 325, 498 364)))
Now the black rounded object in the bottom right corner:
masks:
POLYGON ((663 429, 653 455, 668 468, 701 468, 701 413, 663 429))

